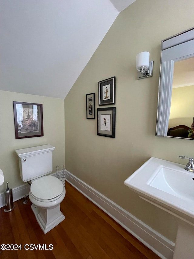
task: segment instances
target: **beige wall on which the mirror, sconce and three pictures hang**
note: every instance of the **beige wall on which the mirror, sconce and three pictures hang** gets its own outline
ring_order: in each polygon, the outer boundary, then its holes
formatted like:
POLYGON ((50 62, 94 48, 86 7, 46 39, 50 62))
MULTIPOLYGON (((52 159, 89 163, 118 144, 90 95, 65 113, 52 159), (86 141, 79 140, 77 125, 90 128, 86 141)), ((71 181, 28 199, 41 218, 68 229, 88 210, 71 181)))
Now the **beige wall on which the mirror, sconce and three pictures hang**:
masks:
POLYGON ((119 14, 65 98, 66 169, 172 241, 174 218, 124 181, 152 156, 184 163, 179 155, 193 155, 191 140, 155 136, 161 40, 191 28, 193 10, 193 0, 135 1, 119 14), (142 51, 154 60, 153 77, 137 80, 135 60, 142 51), (98 81, 112 76, 115 139, 97 136, 97 119, 86 119, 85 104, 85 95, 95 92, 97 117, 98 81))

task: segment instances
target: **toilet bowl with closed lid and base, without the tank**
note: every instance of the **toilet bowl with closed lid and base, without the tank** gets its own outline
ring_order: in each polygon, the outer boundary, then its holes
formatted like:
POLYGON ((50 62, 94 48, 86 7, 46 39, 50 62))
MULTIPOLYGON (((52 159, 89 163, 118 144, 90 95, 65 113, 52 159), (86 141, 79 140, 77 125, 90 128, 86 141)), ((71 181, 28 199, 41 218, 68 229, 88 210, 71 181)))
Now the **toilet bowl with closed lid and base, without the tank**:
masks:
POLYGON ((29 192, 31 208, 44 233, 65 219, 60 210, 64 197, 65 187, 54 176, 43 176, 32 182, 29 192))

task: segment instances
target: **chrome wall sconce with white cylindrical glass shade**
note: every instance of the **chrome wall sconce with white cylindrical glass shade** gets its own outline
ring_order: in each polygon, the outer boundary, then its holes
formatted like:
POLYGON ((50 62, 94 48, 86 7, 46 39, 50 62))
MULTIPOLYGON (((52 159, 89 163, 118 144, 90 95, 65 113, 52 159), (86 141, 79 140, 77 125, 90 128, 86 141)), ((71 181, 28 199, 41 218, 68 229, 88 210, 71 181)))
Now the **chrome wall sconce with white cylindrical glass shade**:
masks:
POLYGON ((149 52, 144 51, 136 56, 137 79, 152 77, 153 61, 149 61, 149 52))

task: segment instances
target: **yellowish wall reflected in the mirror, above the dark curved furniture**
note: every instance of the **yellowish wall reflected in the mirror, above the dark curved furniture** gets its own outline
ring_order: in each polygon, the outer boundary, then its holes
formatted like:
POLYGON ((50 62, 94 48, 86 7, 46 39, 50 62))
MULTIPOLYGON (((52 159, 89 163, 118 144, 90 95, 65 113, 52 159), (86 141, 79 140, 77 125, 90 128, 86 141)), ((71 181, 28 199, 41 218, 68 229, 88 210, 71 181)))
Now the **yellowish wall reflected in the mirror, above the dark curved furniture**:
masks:
POLYGON ((191 127, 194 117, 193 96, 193 85, 172 89, 169 128, 178 125, 191 127))

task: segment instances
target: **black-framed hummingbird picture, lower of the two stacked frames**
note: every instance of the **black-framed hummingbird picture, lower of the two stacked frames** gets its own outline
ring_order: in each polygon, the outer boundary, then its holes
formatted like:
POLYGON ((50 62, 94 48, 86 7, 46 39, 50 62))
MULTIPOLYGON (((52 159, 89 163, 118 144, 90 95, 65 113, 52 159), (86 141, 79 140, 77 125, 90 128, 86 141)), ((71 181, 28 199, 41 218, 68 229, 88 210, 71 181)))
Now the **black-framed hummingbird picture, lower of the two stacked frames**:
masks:
POLYGON ((115 138, 116 107, 98 108, 97 135, 115 138))

